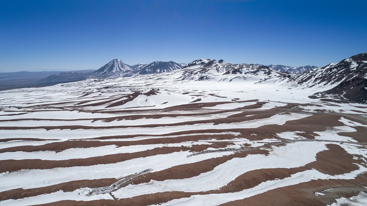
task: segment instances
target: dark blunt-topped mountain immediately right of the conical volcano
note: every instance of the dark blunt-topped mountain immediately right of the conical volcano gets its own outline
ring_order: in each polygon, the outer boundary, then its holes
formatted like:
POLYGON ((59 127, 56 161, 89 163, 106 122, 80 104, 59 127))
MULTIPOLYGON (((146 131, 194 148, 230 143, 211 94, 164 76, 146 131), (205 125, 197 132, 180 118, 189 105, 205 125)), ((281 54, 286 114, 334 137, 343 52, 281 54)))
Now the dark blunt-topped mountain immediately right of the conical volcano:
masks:
MULTIPOLYGON (((168 72, 175 69, 181 69, 183 66, 176 63, 176 62, 159 62, 155 61, 148 65, 142 66, 133 72, 131 72, 132 75, 134 74, 155 74, 155 73, 161 73, 161 72, 168 72)), ((130 74, 129 74, 130 75, 130 74)))

